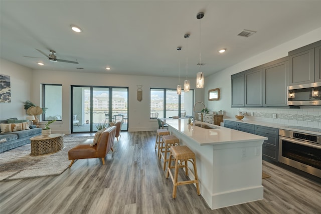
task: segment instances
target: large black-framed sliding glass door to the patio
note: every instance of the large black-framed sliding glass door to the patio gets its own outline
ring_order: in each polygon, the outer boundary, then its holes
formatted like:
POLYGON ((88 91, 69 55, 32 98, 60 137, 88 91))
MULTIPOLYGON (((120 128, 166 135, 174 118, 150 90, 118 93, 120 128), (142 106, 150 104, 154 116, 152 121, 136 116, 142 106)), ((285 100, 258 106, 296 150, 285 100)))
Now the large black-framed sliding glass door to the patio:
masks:
POLYGON ((72 125, 74 132, 96 132, 99 123, 121 121, 128 130, 128 88, 72 86, 72 125))

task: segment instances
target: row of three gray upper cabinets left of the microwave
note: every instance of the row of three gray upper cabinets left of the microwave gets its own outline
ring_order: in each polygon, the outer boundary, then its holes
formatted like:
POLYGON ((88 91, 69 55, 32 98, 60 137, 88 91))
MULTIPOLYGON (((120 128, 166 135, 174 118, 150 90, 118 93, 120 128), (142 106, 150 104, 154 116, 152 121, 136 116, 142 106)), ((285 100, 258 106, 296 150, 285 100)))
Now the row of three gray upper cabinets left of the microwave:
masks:
POLYGON ((231 76, 231 107, 287 106, 288 57, 231 76))

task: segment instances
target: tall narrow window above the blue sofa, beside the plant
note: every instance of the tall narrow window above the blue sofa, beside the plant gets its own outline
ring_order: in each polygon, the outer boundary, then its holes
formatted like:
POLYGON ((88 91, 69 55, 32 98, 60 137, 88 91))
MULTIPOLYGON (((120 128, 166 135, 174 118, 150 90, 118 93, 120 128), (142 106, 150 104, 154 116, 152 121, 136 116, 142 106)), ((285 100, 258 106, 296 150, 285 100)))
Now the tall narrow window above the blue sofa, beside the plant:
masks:
POLYGON ((43 84, 43 120, 62 120, 62 85, 43 84))

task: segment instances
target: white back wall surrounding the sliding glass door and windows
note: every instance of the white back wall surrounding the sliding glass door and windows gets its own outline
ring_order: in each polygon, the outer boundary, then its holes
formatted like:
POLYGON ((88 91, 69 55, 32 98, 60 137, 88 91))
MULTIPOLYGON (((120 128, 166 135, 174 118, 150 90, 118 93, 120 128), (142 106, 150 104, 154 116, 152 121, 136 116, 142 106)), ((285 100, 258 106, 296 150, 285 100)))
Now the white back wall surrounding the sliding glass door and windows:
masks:
MULTIPOLYGON (((35 102, 41 103, 41 84, 62 84, 63 112, 61 124, 51 125, 53 132, 70 133, 71 85, 82 86, 123 86, 129 88, 128 131, 147 131, 158 128, 157 121, 149 119, 149 89, 174 88, 178 78, 128 76, 113 74, 94 74, 83 72, 60 72, 34 70, 31 93, 35 102), (142 101, 137 101, 137 85, 142 85, 142 101)), ((190 79, 191 88, 195 89, 195 79, 190 79)), ((195 100, 204 101, 204 89, 195 89, 195 100)))

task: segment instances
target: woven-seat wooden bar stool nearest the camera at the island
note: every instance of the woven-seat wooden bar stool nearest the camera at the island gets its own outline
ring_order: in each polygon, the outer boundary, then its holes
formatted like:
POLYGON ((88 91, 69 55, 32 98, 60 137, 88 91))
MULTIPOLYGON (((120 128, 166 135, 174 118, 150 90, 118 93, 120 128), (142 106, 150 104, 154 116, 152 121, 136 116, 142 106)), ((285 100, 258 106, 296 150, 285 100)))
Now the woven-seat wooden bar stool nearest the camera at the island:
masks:
POLYGON ((195 153, 187 146, 173 146, 171 148, 170 152, 170 159, 169 159, 169 167, 167 168, 167 174, 166 178, 169 178, 169 174, 171 175, 172 181, 173 181, 173 198, 176 198, 176 189, 178 185, 185 185, 185 184, 190 184, 190 183, 196 183, 196 190, 197 194, 200 195, 200 186, 199 186, 199 180, 197 177, 197 169, 196 169, 196 158, 195 158, 195 153), (172 162, 172 157, 175 160, 175 166, 171 166, 172 162), (179 163, 180 161, 180 163, 179 163), (178 173, 179 173, 179 168, 185 167, 185 172, 186 175, 188 175, 188 171, 190 170, 189 167, 187 166, 188 161, 190 161, 193 166, 194 166, 194 174, 191 172, 195 180, 186 180, 186 181, 178 181, 178 173), (182 163, 185 164, 182 164, 182 163), (171 169, 175 168, 175 174, 173 177, 173 174, 171 172, 171 169))

